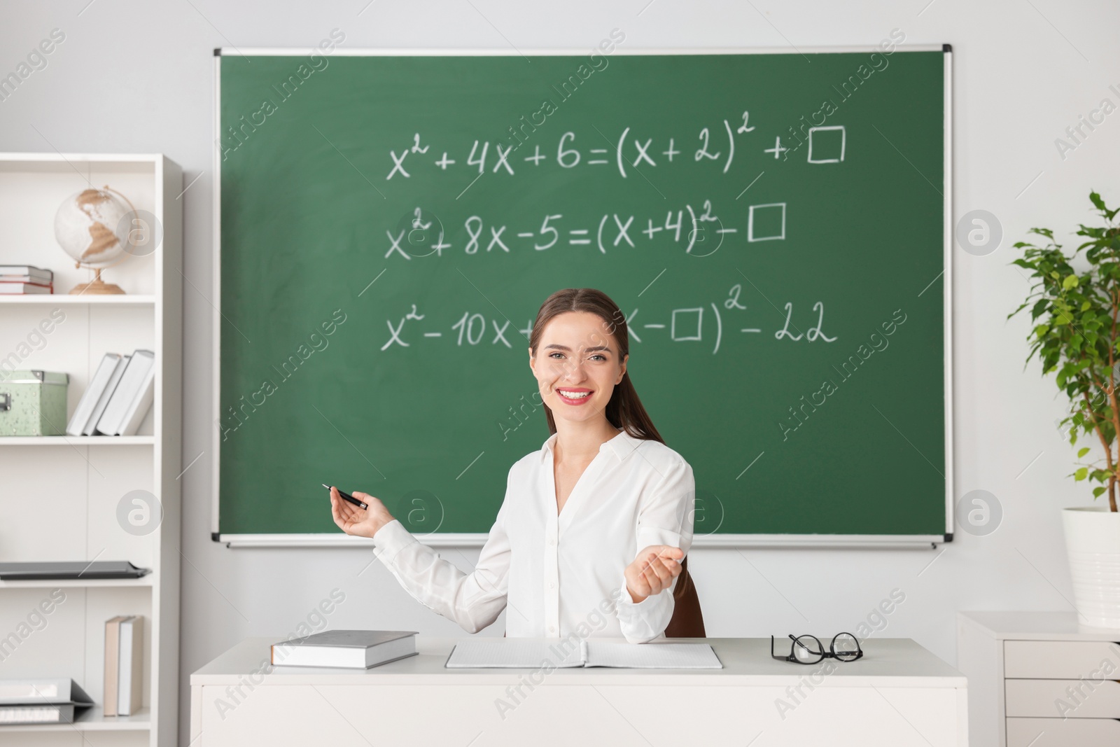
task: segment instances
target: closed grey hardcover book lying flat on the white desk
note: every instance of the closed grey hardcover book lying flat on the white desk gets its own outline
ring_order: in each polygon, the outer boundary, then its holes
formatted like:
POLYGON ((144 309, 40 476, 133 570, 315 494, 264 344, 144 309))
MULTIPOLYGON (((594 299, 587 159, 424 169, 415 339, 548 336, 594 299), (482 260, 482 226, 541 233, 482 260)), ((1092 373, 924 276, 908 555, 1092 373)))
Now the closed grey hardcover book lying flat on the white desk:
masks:
POLYGON ((278 666, 370 669, 414 656, 417 631, 324 631, 272 644, 278 666))

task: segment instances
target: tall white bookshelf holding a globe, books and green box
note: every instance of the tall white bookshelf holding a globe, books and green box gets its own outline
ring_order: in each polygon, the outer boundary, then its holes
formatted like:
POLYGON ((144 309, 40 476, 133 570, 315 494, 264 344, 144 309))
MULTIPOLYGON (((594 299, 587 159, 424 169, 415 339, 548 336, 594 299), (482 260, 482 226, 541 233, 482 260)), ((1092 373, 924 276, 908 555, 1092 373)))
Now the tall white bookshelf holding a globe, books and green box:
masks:
POLYGON ((0 581, 0 679, 72 678, 96 703, 72 725, 2 727, 0 747, 159 747, 178 737, 181 192, 181 169, 158 153, 0 153, 0 264, 55 271, 55 295, 0 297, 0 363, 15 355, 18 368, 69 374, 68 418, 105 353, 156 353, 155 402, 138 435, 0 437, 0 561, 130 560, 151 569, 139 579, 0 581), (68 296, 93 273, 56 243, 55 212, 69 195, 105 185, 157 217, 162 244, 103 271, 125 296, 68 296), (57 315, 63 321, 28 344, 57 315), (118 523, 118 504, 132 491, 162 506, 148 534, 118 523), (52 595, 64 600, 43 615, 52 595), (143 709, 133 717, 101 710, 104 623, 115 615, 144 617, 143 709))

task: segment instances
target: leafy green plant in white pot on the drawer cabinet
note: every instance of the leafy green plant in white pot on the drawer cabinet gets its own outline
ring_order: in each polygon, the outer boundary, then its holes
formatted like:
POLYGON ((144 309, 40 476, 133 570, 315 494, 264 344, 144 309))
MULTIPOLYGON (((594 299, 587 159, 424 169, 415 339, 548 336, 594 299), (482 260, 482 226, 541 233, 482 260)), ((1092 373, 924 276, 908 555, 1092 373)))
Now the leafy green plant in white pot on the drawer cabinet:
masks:
MULTIPOLYGON (((1046 239, 1043 246, 1015 244, 1023 258, 1012 264, 1029 270, 1035 282, 1026 302, 1008 318, 1030 307, 1035 326, 1027 336, 1027 362, 1037 355, 1044 375, 1056 373, 1057 386, 1070 401, 1060 422, 1070 443, 1085 437, 1101 448, 1095 460, 1079 461, 1071 476, 1099 483, 1093 497, 1107 495, 1108 505, 1065 508, 1062 523, 1079 622, 1120 628, 1120 226, 1116 221, 1120 208, 1109 209, 1095 192, 1089 199, 1104 225, 1081 225, 1077 235, 1085 242, 1068 256, 1049 228, 1029 232, 1046 239), (1079 258, 1085 267, 1080 272, 1072 264, 1079 258)), ((1091 451, 1092 447, 1083 447, 1077 459, 1091 451)))

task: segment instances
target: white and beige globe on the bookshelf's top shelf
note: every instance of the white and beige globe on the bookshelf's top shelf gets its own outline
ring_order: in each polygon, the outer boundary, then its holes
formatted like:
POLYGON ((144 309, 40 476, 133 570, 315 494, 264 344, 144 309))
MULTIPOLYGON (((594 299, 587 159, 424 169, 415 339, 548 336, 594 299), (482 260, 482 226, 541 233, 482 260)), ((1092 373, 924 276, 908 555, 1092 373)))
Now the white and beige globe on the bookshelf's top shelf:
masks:
MULTIPOLYGON (((125 198, 127 199, 127 198, 125 198)), ((55 213, 55 240, 80 267, 97 271, 92 283, 78 286, 72 293, 123 293, 118 286, 101 280, 101 270, 114 264, 124 253, 131 206, 109 187, 74 193, 55 213)))

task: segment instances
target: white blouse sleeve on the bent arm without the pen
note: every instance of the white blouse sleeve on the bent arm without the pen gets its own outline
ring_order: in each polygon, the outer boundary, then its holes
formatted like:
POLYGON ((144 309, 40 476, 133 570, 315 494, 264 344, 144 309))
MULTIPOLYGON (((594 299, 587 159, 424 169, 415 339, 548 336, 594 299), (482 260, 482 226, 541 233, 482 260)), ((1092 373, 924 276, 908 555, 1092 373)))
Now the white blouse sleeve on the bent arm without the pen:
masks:
MULTIPOLYGON (((637 547, 634 557, 653 544, 680 548, 688 554, 692 547, 692 521, 696 506, 696 480, 692 467, 681 459, 663 475, 648 499, 643 499, 637 517, 637 547)), ((623 635, 629 643, 645 643, 661 636, 673 616, 673 583, 640 603, 631 599, 622 573, 622 597, 617 614, 623 635)))

